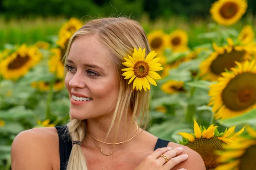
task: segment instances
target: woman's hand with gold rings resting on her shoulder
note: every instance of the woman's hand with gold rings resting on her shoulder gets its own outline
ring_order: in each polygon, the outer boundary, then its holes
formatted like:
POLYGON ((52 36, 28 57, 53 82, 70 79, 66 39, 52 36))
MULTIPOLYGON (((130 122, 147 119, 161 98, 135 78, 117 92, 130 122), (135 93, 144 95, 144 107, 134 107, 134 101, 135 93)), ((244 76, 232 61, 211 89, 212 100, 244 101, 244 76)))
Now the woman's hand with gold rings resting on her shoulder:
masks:
MULTIPOLYGON (((182 152, 182 147, 176 147, 175 149, 171 147, 158 148, 147 156, 134 170, 171 170, 175 165, 188 159, 188 155, 180 155, 182 152)), ((186 169, 182 168, 180 170, 186 169)))

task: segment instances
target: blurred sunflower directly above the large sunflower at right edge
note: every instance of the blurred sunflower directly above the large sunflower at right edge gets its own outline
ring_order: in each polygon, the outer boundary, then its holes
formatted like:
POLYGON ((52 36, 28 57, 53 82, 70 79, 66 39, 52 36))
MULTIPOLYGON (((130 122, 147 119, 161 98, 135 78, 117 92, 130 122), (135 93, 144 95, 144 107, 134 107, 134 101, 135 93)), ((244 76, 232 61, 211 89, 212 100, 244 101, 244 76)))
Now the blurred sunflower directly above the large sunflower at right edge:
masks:
POLYGON ((203 79, 216 81, 221 77, 221 73, 236 65, 235 61, 244 62, 251 59, 249 48, 233 45, 233 40, 230 38, 227 39, 227 42, 228 45, 224 47, 218 47, 215 43, 212 45, 215 52, 212 52, 199 66, 200 76, 203 79))

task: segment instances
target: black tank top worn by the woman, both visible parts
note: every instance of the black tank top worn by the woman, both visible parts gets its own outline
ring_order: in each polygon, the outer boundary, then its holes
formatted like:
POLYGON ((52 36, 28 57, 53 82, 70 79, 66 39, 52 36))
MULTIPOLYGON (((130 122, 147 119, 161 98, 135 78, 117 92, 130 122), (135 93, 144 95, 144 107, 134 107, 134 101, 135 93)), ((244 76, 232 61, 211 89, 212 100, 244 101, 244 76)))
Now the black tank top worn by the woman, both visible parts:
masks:
MULTIPOLYGON (((55 126, 55 128, 57 129, 59 138, 60 170, 65 170, 72 149, 72 141, 70 135, 64 135, 67 125, 55 126)), ((167 147, 168 143, 169 141, 158 138, 154 150, 167 147)))

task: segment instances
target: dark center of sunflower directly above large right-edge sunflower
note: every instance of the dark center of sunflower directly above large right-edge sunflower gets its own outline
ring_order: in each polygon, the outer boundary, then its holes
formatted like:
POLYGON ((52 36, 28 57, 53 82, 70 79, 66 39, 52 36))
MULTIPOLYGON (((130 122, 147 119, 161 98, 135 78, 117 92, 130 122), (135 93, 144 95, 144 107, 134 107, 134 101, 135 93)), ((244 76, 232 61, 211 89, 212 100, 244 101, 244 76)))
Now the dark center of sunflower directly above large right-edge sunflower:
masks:
POLYGON ((225 69, 230 70, 230 68, 235 67, 235 61, 244 61, 244 56, 245 51, 236 51, 234 49, 230 53, 225 51, 224 54, 218 55, 218 57, 212 61, 210 69, 214 74, 221 74, 225 69))

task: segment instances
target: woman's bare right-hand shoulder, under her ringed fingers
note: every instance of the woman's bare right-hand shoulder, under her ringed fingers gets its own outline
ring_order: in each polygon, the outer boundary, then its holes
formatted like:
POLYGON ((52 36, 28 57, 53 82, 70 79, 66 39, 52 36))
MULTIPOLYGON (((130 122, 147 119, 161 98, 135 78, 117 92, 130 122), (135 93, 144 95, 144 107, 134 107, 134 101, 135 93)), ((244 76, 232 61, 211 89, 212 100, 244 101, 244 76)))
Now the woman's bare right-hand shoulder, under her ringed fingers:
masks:
POLYGON ((186 168, 188 170, 205 170, 206 169, 202 157, 195 150, 192 150, 189 147, 186 147, 181 144, 176 144, 173 142, 169 142, 168 147, 172 147, 173 149, 175 147, 183 147, 184 150, 183 150, 183 153, 181 154, 187 154, 189 156, 189 158, 186 161, 180 164, 177 164, 173 168, 174 170, 180 169, 180 168, 186 168))

